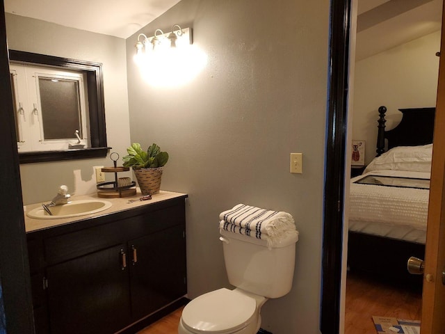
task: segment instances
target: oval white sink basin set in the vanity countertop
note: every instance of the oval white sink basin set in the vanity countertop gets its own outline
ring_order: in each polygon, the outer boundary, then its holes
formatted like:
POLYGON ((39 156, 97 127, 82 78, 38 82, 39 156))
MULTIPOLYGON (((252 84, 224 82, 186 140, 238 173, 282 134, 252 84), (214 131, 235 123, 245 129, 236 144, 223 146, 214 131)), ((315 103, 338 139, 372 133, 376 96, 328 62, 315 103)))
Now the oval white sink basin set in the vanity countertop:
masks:
POLYGON ((95 214, 111 207, 111 202, 106 200, 73 200, 68 204, 56 205, 49 207, 53 214, 49 215, 44 211, 43 207, 36 207, 26 213, 29 218, 35 219, 60 219, 76 216, 84 216, 86 214, 95 214))

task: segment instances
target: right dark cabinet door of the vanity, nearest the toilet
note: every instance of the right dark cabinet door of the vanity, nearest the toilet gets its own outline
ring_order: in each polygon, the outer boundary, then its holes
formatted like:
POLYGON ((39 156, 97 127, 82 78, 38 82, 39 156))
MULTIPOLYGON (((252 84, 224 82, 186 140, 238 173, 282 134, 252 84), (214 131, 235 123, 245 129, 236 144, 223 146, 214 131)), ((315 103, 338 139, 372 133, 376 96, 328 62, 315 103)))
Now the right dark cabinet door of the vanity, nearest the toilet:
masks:
POLYGON ((179 225, 129 241, 133 320, 186 294, 185 240, 179 225))

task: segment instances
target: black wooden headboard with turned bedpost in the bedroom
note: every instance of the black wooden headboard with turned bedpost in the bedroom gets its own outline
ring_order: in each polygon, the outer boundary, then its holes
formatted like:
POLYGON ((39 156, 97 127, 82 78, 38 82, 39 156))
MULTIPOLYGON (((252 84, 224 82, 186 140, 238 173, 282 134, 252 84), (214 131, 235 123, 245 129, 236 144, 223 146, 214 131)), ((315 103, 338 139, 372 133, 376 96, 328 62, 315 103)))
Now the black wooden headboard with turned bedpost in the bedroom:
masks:
POLYGON ((387 149, 396 146, 416 146, 432 143, 435 107, 398 109, 403 113, 402 120, 394 129, 385 131, 386 106, 380 106, 378 113, 377 157, 387 149))

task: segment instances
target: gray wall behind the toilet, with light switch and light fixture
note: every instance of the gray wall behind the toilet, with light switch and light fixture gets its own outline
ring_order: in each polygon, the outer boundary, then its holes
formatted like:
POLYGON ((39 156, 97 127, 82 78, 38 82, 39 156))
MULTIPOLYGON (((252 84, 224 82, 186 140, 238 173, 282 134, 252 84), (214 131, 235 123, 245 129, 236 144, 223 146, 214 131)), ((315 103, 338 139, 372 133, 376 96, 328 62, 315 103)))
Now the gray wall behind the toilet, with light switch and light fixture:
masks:
POLYGON ((208 63, 179 88, 143 81, 138 34, 127 39, 131 141, 168 151, 162 188, 189 196, 189 296, 229 287, 220 212, 243 202, 296 219, 293 289, 261 312, 274 334, 319 333, 328 23, 327 0, 182 0, 138 32, 193 27, 208 63))

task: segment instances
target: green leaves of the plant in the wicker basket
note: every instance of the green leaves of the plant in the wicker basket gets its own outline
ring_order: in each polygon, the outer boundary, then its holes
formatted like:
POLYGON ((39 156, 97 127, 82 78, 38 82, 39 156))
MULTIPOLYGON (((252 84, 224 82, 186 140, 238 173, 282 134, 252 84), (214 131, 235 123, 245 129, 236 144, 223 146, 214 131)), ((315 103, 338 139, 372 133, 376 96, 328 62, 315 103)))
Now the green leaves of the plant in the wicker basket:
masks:
POLYGON ((161 148, 153 143, 147 151, 143 150, 140 143, 133 143, 127 148, 128 155, 122 158, 124 167, 133 169, 158 168, 167 164, 168 153, 161 152, 161 148))

